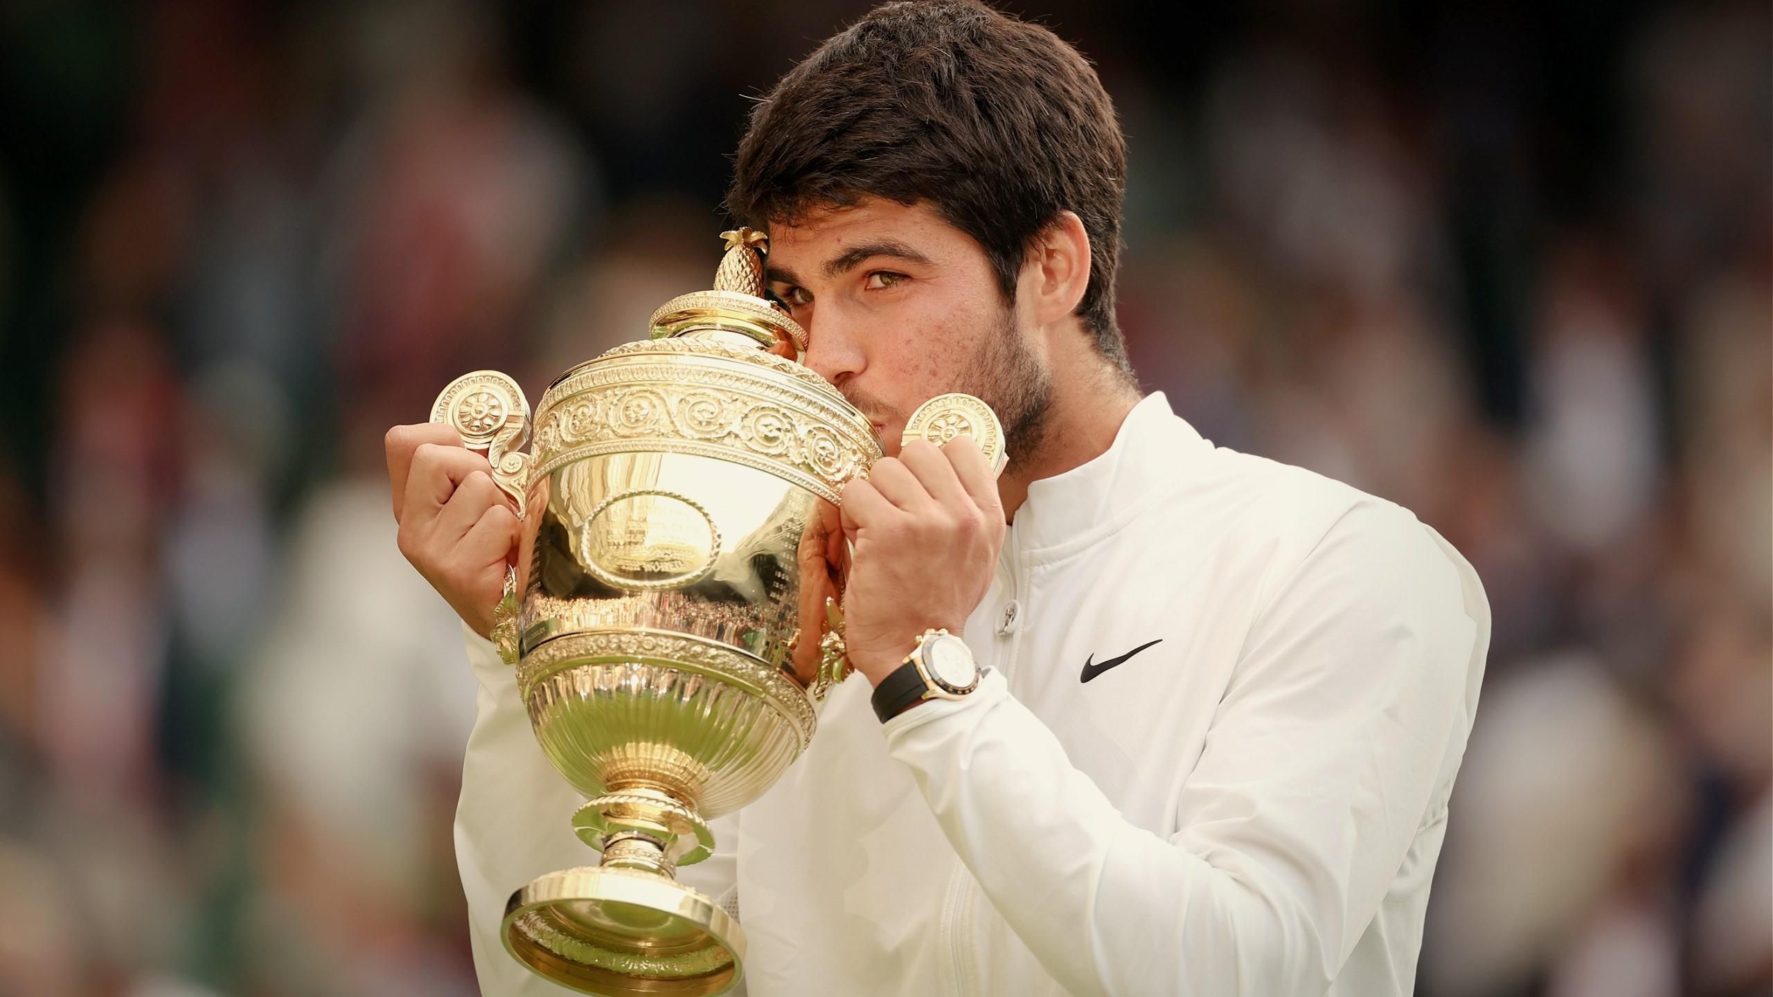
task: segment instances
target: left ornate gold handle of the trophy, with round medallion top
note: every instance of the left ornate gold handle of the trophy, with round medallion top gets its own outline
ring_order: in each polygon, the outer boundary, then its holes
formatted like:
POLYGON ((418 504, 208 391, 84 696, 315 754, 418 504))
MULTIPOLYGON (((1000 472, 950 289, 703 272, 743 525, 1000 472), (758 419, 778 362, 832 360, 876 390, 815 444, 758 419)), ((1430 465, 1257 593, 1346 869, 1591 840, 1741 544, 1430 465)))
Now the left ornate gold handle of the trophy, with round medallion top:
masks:
MULTIPOLYGON (((470 451, 486 454, 493 465, 493 484, 518 506, 518 520, 528 513, 530 401, 511 376, 498 371, 473 371, 449 383, 431 403, 431 422, 443 422, 461 433, 470 451)), ((518 569, 505 568, 505 593, 493 607, 493 646, 507 665, 518 663, 518 569)))

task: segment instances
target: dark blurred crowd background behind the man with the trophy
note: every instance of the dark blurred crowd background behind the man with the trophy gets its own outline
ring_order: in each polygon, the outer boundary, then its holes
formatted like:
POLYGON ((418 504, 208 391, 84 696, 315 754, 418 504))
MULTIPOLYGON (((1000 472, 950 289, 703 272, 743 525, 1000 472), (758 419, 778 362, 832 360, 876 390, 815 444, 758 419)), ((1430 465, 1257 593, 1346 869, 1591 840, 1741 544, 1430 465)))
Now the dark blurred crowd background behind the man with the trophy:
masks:
MULTIPOLYGON (((0 2, 0 997, 475 993, 381 435, 706 286, 863 7, 0 2)), ((1142 383, 1495 610, 1418 993, 1773 993, 1768 5, 1174 7, 1012 4, 1121 108, 1142 383)))

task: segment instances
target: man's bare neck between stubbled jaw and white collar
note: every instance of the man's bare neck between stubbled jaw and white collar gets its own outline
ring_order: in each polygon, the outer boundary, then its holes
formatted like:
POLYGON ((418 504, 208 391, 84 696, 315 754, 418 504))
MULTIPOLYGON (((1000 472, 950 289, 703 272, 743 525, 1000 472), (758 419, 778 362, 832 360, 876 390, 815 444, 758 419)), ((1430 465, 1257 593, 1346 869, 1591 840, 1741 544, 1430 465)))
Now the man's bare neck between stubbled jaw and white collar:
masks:
POLYGON ((1030 483, 1066 474, 1108 452, 1138 399, 1131 380, 1094 349, 1085 362, 1053 364, 1053 401, 1041 444, 1019 467, 1005 468, 998 481, 1004 522, 1016 520, 1016 509, 1028 500, 1030 483))

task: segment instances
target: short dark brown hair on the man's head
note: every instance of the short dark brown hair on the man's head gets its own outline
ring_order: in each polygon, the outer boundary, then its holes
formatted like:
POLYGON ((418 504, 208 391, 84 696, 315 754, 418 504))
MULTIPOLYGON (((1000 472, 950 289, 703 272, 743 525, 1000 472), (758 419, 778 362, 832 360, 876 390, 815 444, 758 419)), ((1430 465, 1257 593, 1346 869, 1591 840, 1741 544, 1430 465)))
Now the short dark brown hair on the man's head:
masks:
POLYGON ((1090 238, 1078 303, 1126 369, 1113 319, 1126 138, 1089 60, 968 0, 886 4, 828 39, 752 110, 727 209, 745 224, 881 197, 929 204, 984 247, 1005 300, 1071 209, 1090 238))

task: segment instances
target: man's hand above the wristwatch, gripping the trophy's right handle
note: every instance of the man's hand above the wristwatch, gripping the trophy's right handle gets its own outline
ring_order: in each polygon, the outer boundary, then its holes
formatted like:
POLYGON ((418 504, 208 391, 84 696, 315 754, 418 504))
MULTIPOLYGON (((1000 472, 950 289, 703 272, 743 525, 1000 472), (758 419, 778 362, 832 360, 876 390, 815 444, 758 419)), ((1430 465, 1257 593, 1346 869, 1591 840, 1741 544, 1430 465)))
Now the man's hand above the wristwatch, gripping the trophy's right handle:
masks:
POLYGON ((844 594, 849 662, 874 685, 926 630, 961 633, 1004 546, 996 477, 970 436, 913 440, 844 488, 855 545, 844 594))

